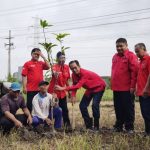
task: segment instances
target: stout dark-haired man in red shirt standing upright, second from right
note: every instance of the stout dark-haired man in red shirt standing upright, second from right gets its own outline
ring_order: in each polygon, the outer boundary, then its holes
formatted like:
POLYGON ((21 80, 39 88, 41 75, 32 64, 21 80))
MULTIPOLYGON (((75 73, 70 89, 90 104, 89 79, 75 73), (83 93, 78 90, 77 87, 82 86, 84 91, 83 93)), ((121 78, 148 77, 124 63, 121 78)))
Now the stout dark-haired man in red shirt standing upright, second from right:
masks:
POLYGON ((117 53, 112 59, 111 88, 116 113, 114 130, 123 131, 123 125, 128 133, 134 130, 134 92, 136 85, 138 60, 129 51, 127 40, 120 38, 116 41, 117 53))

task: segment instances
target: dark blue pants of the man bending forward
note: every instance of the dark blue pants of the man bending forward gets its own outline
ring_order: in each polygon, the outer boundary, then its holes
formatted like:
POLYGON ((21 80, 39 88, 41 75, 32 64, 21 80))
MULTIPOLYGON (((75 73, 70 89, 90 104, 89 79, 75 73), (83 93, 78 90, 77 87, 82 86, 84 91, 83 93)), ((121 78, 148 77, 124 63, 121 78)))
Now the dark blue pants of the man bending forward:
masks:
POLYGON ((82 117, 84 119, 85 125, 87 128, 91 128, 93 126, 92 118, 90 118, 87 107, 89 106, 91 100, 93 99, 92 103, 92 112, 94 117, 94 127, 99 128, 99 118, 100 118, 100 101, 103 96, 104 91, 100 91, 97 93, 91 93, 89 96, 84 95, 81 102, 80 102, 80 111, 82 117))

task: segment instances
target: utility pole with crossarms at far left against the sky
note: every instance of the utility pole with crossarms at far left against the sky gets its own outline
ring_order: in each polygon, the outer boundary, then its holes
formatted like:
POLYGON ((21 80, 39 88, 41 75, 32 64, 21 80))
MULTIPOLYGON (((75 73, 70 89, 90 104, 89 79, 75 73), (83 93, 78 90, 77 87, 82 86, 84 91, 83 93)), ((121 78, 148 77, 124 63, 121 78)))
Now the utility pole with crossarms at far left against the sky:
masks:
POLYGON ((8 38, 5 38, 8 40, 8 43, 5 43, 5 46, 8 46, 8 77, 11 76, 11 50, 14 43, 11 42, 11 39, 13 37, 11 36, 11 30, 9 30, 9 36, 8 38))

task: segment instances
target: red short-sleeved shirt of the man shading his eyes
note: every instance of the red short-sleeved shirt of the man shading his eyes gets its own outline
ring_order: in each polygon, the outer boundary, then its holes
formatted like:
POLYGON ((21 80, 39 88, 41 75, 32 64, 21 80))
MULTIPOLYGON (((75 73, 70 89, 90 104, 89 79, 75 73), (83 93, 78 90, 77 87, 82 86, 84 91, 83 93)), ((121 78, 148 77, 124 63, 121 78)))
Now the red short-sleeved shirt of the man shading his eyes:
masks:
POLYGON ((43 61, 30 60, 22 68, 22 76, 27 76, 27 91, 38 91, 38 84, 43 80, 43 70, 49 67, 43 61))

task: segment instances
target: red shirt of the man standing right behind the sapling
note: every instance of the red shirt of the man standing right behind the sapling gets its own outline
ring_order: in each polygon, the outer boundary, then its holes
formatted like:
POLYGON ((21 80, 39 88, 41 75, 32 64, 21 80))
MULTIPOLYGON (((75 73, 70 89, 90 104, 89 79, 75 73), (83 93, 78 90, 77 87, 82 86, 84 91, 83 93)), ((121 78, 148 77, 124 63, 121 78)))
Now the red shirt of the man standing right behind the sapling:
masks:
POLYGON ((59 86, 66 86, 68 85, 68 80, 70 79, 70 70, 69 70, 69 66, 68 65, 59 65, 59 64, 55 64, 53 66, 53 70, 58 72, 59 75, 57 77, 57 79, 53 76, 52 80, 50 82, 49 85, 49 89, 48 92, 49 93, 56 93, 57 97, 59 99, 63 99, 66 96, 66 91, 54 91, 54 86, 57 84, 59 86))

